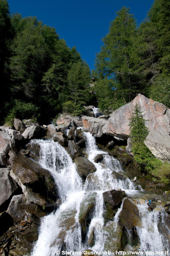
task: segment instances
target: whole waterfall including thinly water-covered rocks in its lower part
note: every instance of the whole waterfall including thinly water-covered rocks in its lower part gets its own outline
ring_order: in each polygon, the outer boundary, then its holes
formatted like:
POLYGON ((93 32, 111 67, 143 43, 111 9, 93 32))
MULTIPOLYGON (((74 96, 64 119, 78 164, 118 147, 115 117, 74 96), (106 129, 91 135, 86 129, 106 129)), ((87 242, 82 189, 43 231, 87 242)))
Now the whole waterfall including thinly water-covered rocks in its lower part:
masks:
POLYGON ((152 212, 148 211, 147 201, 138 199, 144 191, 126 178, 118 160, 99 150, 90 132, 84 132, 84 138, 88 160, 96 167, 96 172, 90 173, 85 182, 76 172, 76 165, 67 151, 58 142, 32 140, 32 143, 40 145, 39 163, 51 172, 58 186, 60 206, 56 212, 42 218, 39 238, 31 255, 54 256, 58 250, 83 251, 88 248, 111 252, 123 248, 138 251, 169 250, 168 235, 163 236, 159 228, 161 223, 169 232, 164 224, 166 212, 161 207, 160 211, 156 210, 158 207, 152 212), (94 158, 98 154, 102 154, 103 158, 96 163, 94 158), (133 230, 121 226, 119 215, 125 199, 119 208, 110 209, 103 199, 103 192, 108 190, 125 191, 130 204, 134 205, 134 212, 136 206, 138 208, 135 214, 142 220, 142 226, 133 227, 133 230), (104 217, 106 210, 111 212, 111 217, 108 213, 109 217, 104 217), (136 247, 130 242, 133 232, 138 238, 136 247), (122 242, 124 233, 128 243, 122 242))

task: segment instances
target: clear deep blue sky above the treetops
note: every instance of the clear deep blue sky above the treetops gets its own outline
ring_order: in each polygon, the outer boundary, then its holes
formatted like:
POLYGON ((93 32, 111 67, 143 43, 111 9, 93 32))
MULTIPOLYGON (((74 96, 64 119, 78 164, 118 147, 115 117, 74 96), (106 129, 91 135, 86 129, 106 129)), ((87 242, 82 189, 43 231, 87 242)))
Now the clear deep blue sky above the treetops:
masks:
POLYGON ((138 24, 146 17, 154 0, 8 0, 11 13, 22 17, 36 16, 54 27, 67 45, 74 45, 90 69, 94 68, 96 52, 122 6, 130 7, 138 24))

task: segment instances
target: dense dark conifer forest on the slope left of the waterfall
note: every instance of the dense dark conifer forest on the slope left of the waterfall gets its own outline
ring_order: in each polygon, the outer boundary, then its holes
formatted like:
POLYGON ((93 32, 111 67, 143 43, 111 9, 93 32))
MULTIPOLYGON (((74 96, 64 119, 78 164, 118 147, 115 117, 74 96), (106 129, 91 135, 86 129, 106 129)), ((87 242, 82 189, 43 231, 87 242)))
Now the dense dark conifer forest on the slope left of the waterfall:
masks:
POLYGON ((14 117, 47 122, 64 110, 82 112, 90 101, 90 68, 76 47, 36 17, 10 15, 0 0, 1 122, 14 117))

